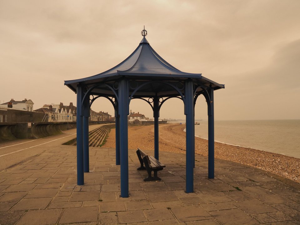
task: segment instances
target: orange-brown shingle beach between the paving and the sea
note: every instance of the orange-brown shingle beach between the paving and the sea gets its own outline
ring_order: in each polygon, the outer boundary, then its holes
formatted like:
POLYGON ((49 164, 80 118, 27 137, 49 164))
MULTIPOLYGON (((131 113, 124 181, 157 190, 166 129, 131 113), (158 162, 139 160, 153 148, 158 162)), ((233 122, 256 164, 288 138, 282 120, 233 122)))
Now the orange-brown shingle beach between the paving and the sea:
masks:
MULTIPOLYGON (((159 151, 185 153, 185 132, 182 124, 159 126, 159 151)), ((207 156, 207 140, 195 137, 195 153, 207 156)), ((115 129, 111 129, 105 148, 115 148, 115 129)), ((129 126, 128 148, 154 150, 153 126, 129 126)), ((215 158, 259 168, 300 183, 300 159, 252 148, 215 142, 215 158)))

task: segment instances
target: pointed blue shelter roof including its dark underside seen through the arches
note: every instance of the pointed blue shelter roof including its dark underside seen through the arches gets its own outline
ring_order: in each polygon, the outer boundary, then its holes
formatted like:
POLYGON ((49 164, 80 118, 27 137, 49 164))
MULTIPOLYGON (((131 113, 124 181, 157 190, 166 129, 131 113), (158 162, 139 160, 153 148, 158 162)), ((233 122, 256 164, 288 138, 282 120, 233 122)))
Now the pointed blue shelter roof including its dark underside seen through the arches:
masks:
MULTIPOLYGON (((65 81, 70 89, 76 92, 78 84, 83 84, 87 87, 94 86, 101 83, 111 83, 113 85, 121 77, 127 77, 131 81, 141 83, 147 81, 168 81, 168 82, 180 82, 188 78, 191 78, 194 83, 202 84, 203 86, 211 86, 214 90, 224 88, 224 85, 218 84, 210 79, 207 79, 201 75, 201 73, 185 73, 177 68, 173 67, 162 57, 154 51, 145 37, 139 43, 134 52, 126 58, 122 63, 117 66, 97 75, 65 81)), ((184 85, 182 83, 182 85, 184 85)), ((201 89, 201 88, 200 88, 201 89)), ((95 95, 107 95, 113 96, 113 92, 105 87, 98 87, 93 89, 95 95)), ((136 93, 137 97, 169 97, 178 96, 173 88, 163 83, 157 83, 155 85, 149 84, 140 88, 136 93)))

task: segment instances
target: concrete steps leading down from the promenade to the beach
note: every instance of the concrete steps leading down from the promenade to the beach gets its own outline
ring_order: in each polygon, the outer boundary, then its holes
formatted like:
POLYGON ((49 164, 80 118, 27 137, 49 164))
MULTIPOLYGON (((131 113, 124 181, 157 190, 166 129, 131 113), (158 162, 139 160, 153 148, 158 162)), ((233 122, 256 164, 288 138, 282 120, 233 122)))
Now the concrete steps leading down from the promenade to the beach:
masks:
MULTIPOLYGON (((103 143, 109 130, 111 128, 115 128, 115 127, 116 127, 115 124, 108 124, 108 125, 103 125, 97 129, 90 131, 88 133, 89 134, 88 135, 89 136, 88 137, 88 145, 90 147, 99 147, 103 143)), ((77 144, 77 142, 75 141, 72 145, 76 145, 76 144, 77 144)))

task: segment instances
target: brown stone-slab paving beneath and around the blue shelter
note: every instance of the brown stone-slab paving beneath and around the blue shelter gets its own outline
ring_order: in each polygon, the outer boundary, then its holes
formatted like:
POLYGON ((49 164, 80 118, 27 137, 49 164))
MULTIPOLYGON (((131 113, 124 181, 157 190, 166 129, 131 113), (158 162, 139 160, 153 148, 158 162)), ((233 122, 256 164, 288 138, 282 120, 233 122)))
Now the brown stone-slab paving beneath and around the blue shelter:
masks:
POLYGON ((76 147, 59 144, 0 172, 0 224, 300 224, 297 183, 222 160, 208 180, 207 158, 197 155, 187 194, 185 155, 161 152, 160 161, 162 181, 143 182, 129 150, 130 197, 120 198, 114 149, 90 148, 91 172, 77 186, 76 147))

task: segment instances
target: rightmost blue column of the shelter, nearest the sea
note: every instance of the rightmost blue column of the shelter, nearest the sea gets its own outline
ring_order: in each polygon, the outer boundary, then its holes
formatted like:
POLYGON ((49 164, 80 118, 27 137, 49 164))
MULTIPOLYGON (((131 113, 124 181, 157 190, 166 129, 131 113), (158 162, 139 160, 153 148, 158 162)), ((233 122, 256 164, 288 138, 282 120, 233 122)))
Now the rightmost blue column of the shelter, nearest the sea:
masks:
POLYGON ((213 179, 215 178, 213 88, 210 88, 209 97, 210 97, 210 106, 208 106, 208 179, 213 179))

